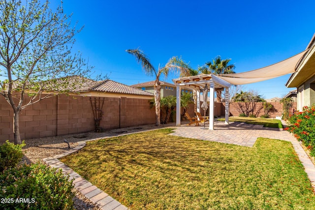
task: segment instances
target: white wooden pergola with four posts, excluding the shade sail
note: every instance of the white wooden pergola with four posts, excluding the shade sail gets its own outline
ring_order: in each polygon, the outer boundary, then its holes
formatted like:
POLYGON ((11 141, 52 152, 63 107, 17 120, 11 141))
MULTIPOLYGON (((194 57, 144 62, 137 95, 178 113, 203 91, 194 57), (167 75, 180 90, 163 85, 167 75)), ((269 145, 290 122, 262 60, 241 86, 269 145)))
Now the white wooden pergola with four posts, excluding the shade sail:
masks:
POLYGON ((214 94, 215 90, 225 89, 225 124, 228 124, 229 115, 229 87, 230 83, 224 81, 214 74, 202 74, 190 77, 182 77, 173 79, 176 86, 176 126, 181 125, 181 89, 187 88, 197 91, 197 112, 200 112, 200 90, 203 90, 208 85, 210 92, 210 106, 209 106, 209 130, 214 129, 214 94))

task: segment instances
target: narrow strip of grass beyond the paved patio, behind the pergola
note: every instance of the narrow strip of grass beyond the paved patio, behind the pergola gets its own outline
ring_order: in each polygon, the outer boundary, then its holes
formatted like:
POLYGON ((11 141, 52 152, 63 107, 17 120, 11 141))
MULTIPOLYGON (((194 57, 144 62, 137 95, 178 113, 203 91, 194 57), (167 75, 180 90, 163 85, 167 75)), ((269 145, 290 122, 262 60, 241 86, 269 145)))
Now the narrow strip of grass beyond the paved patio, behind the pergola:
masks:
MULTIPOLYGON (((219 121, 224 121, 224 119, 218 119, 219 121)), ((274 120, 268 118, 249 118, 249 117, 231 117, 228 118, 231 122, 246 122, 249 124, 259 124, 264 125, 264 127, 275 127, 283 128, 281 120, 274 120)))

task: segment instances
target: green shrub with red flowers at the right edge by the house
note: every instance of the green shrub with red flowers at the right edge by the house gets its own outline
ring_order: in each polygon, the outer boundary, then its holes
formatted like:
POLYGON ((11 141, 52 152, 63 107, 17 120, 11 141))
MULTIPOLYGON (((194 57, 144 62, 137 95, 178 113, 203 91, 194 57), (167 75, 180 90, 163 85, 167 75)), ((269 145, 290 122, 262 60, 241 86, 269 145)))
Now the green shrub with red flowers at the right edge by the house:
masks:
POLYGON ((285 130, 294 134, 294 137, 302 141, 315 156, 315 105, 303 107, 302 112, 295 112, 289 116, 290 126, 285 130))

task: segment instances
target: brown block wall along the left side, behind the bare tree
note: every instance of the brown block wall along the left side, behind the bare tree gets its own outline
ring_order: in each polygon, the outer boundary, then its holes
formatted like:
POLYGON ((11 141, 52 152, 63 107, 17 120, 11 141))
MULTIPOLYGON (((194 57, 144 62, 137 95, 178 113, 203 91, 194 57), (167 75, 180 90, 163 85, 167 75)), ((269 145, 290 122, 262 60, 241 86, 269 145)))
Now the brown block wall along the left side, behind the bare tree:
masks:
MULTIPOLYGON (((94 97, 93 97, 94 98, 94 97)), ((105 130, 155 123, 155 110, 148 99, 104 99, 100 126, 105 130)), ((21 139, 83 133, 95 129, 90 97, 57 95, 28 106, 20 113, 21 139)), ((13 142, 13 110, 0 97, 0 143, 13 142)))

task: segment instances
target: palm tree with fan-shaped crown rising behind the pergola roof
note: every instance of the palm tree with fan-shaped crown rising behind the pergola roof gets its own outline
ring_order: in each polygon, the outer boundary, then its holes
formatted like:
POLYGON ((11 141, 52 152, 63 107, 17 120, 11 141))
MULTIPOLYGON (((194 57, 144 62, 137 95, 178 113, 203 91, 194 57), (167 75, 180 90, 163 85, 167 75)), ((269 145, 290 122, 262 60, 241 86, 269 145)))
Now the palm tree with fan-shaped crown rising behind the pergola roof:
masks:
MULTIPOLYGON (((204 72, 212 73, 212 74, 232 74, 235 73, 234 64, 228 64, 231 59, 222 60, 220 56, 217 56, 215 59, 209 62, 206 62, 208 66, 208 70, 202 69, 204 72)), ((201 71, 201 72, 202 72, 201 71)), ((204 73, 202 72, 202 73, 204 73)), ((217 102, 221 102, 221 90, 217 90, 217 102)))

